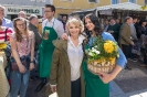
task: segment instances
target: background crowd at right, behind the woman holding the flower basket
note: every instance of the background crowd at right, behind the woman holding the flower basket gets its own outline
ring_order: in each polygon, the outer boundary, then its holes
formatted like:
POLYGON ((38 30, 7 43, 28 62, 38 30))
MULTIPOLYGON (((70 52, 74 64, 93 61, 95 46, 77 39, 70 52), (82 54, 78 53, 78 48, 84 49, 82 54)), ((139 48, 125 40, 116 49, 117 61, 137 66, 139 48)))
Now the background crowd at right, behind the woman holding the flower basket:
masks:
MULTIPOLYGON (((117 41, 125 56, 133 61, 143 61, 139 66, 147 66, 146 63, 146 35, 147 20, 136 17, 126 17, 124 23, 117 22, 118 19, 106 20, 104 31, 111 33, 117 41)), ((126 66, 127 69, 132 69, 126 66)))

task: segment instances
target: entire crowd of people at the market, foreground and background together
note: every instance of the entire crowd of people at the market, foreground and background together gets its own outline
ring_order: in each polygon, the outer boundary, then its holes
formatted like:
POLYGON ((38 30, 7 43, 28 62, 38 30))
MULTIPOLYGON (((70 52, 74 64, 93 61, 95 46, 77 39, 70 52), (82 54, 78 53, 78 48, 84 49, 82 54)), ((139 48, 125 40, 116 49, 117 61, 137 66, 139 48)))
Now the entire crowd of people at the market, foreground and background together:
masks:
POLYGON ((55 91, 59 97, 109 97, 111 82, 123 68, 132 69, 128 58, 136 62, 143 56, 140 66, 147 66, 146 20, 137 22, 136 18, 126 17, 122 24, 119 19, 111 19, 102 28, 95 14, 82 20, 63 15, 62 21, 54 14, 55 7, 45 4, 43 22, 38 28, 38 15, 27 18, 20 11, 12 22, 4 18, 4 7, 0 6, 0 43, 10 44, 11 51, 7 57, 10 97, 25 97, 29 79, 41 79, 34 91, 46 85, 46 97, 55 91), (119 57, 109 74, 94 75, 87 69, 85 50, 93 46, 96 36, 118 44, 119 57))

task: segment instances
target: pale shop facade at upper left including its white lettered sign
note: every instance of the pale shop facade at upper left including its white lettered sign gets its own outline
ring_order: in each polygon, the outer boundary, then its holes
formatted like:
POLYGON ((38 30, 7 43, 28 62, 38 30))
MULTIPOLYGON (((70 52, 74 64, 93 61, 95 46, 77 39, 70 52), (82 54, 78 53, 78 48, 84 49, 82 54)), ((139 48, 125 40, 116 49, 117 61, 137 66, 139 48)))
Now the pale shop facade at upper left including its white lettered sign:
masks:
POLYGON ((25 11, 28 17, 42 17, 46 3, 52 3, 52 0, 2 0, 0 4, 6 7, 6 17, 12 20, 18 17, 19 11, 25 11))

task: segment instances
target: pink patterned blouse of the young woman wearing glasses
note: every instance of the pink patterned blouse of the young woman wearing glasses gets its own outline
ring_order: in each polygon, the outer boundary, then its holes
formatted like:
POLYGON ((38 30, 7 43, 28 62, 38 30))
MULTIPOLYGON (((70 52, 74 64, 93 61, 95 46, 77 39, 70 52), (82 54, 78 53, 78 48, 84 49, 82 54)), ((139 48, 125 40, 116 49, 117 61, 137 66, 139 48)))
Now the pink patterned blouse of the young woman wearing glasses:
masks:
POLYGON ((27 36, 23 35, 22 42, 17 42, 15 34, 12 34, 11 37, 15 41, 15 45, 18 48, 19 56, 29 55, 31 53, 31 44, 33 39, 33 32, 29 32, 29 41, 27 40, 27 36))

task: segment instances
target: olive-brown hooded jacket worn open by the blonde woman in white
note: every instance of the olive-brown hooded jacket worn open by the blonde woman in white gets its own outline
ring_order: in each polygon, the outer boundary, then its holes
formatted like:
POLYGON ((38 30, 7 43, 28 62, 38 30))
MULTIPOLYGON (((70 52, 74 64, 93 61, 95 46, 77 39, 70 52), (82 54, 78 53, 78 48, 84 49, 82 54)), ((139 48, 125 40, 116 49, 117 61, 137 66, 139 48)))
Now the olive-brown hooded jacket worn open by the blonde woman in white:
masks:
MULTIPOLYGON (((59 94, 59 97, 71 97, 71 66, 67 56, 67 41, 56 40, 53 42, 53 44, 55 46, 55 50, 53 52, 50 84, 57 84, 56 91, 59 94)), ((85 97, 83 73, 81 74, 81 97, 85 97)), ((50 90, 50 85, 46 87, 45 94, 46 97, 52 94, 52 91, 50 90)))

